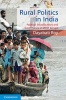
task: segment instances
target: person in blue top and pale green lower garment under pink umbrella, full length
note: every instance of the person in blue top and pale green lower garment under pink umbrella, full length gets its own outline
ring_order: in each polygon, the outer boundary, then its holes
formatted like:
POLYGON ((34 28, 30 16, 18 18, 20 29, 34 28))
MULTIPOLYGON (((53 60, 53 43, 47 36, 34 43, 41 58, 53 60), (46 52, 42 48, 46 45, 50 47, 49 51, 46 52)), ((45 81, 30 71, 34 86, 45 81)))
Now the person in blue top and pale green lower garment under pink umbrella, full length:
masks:
POLYGON ((42 83, 42 71, 39 67, 40 62, 44 62, 45 52, 41 48, 41 43, 36 42, 36 47, 32 48, 30 60, 34 61, 39 71, 39 83, 42 83))

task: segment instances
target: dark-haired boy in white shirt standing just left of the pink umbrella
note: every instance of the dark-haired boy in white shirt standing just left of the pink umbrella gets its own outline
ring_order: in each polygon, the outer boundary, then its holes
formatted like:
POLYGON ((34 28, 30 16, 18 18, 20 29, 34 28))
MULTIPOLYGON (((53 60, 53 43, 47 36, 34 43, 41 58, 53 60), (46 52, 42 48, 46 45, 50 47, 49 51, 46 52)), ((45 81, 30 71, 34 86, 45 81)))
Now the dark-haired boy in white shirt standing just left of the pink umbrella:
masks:
POLYGON ((29 67, 28 66, 30 64, 31 50, 29 48, 29 44, 28 44, 27 38, 25 36, 22 36, 22 38, 21 38, 21 49, 23 49, 24 52, 25 52, 25 54, 24 54, 25 57, 24 57, 23 60, 26 60, 26 61, 23 63, 22 67, 23 67, 23 70, 25 70, 25 72, 26 72, 26 77, 27 78, 25 78, 25 79, 27 79, 26 81, 28 81, 28 72, 29 72, 29 67))

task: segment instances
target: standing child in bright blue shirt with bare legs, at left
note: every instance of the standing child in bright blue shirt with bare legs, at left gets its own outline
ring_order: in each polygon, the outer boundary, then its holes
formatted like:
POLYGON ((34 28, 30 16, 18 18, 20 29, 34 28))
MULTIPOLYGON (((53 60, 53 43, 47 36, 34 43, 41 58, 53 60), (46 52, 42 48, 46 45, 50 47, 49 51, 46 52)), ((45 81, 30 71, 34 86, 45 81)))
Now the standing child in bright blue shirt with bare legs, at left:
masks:
POLYGON ((7 70, 8 74, 7 74, 7 78, 8 78, 8 82, 10 82, 12 80, 12 76, 11 76, 11 50, 13 47, 13 43, 12 43, 12 37, 11 36, 7 36, 7 47, 6 47, 6 52, 4 55, 4 63, 5 63, 5 69, 7 70))

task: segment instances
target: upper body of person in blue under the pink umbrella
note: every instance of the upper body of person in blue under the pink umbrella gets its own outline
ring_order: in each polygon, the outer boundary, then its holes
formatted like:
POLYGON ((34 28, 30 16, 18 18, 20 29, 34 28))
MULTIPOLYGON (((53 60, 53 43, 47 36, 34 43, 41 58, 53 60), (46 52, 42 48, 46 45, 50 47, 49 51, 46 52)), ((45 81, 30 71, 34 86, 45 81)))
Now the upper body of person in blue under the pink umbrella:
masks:
MULTIPOLYGON (((36 47, 32 48, 30 60, 34 61, 35 63, 40 63, 44 61, 45 52, 41 48, 41 43, 36 42, 36 47)), ((38 66, 37 66, 38 67, 38 66)))

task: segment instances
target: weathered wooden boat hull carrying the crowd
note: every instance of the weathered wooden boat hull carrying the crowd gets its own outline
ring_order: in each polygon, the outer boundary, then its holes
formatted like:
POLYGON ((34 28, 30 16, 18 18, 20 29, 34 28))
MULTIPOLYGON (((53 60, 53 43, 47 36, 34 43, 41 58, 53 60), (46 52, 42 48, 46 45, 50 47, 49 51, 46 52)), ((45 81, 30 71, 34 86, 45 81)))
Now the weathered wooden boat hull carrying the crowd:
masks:
POLYGON ((0 83, 0 94, 21 94, 22 96, 41 96, 47 84, 14 82, 0 83))

